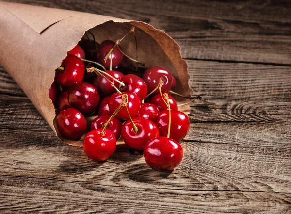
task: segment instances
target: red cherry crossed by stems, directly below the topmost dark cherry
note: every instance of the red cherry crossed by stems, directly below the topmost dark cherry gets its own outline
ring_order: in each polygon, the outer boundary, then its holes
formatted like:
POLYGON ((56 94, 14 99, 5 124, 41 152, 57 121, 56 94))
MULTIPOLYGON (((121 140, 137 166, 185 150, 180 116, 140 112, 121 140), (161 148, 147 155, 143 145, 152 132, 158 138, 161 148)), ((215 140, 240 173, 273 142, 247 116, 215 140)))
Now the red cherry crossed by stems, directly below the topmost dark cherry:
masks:
MULTIPOLYGON (((107 70, 105 72, 108 73, 109 75, 113 76, 117 80, 120 80, 121 78, 124 77, 124 75, 119 71, 107 70)), ((110 80, 116 87, 118 87, 118 82, 116 82, 111 77, 107 76, 106 74, 104 74, 104 76, 107 77, 108 80, 110 80)), ((95 82, 95 80, 93 82, 95 82)), ((96 84, 96 83, 94 83, 94 84, 96 84)), ((114 92, 116 92, 116 90, 114 89, 112 84, 110 82, 108 82, 101 75, 99 75, 97 77, 97 87, 98 87, 98 90, 101 91, 105 96, 112 95, 114 92)))

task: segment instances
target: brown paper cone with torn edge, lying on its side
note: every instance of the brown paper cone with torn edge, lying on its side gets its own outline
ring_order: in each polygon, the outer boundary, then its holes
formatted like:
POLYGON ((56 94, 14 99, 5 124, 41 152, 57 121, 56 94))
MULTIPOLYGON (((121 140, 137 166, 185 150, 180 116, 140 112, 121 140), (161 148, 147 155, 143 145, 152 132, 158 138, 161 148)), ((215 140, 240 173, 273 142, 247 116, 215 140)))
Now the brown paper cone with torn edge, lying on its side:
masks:
MULTIPOLYGON (((0 64, 57 136, 67 144, 82 146, 81 140, 67 140, 57 132, 56 114, 49 99, 55 69, 87 30, 90 29, 97 42, 101 43, 106 39, 115 41, 122 38, 132 25, 136 26, 139 60, 146 67, 168 69, 177 80, 176 91, 191 95, 187 64, 179 53, 180 47, 171 37, 144 22, 110 16, 0 2, 0 64)), ((128 36, 121 47, 134 58, 134 39, 128 36)))

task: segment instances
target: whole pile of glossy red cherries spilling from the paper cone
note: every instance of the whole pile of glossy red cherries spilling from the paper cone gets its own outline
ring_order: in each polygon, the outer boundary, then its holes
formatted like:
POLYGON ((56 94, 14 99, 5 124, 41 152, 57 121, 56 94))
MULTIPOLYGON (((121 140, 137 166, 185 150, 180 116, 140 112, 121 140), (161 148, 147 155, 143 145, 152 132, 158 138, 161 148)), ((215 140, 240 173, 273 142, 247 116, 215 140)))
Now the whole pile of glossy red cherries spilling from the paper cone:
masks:
POLYGON ((96 114, 83 141, 89 158, 105 161, 122 137, 129 148, 144 152, 150 167, 172 170, 183 157, 178 142, 190 128, 188 116, 169 94, 176 80, 163 67, 147 69, 142 78, 117 71, 126 69, 120 42, 83 39, 68 51, 49 89, 58 131, 67 139, 81 139, 87 131, 85 116, 96 114))

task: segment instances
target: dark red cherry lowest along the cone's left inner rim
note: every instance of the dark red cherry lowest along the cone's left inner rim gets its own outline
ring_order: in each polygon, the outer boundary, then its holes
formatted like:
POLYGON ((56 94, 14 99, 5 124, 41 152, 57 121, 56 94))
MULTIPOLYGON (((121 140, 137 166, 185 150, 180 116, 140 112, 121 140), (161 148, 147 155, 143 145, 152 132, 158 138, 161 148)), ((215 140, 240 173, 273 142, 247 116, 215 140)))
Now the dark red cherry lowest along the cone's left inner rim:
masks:
POLYGON ((87 122, 77 109, 67 108, 57 116, 57 127, 65 138, 77 140, 86 132, 87 122))

